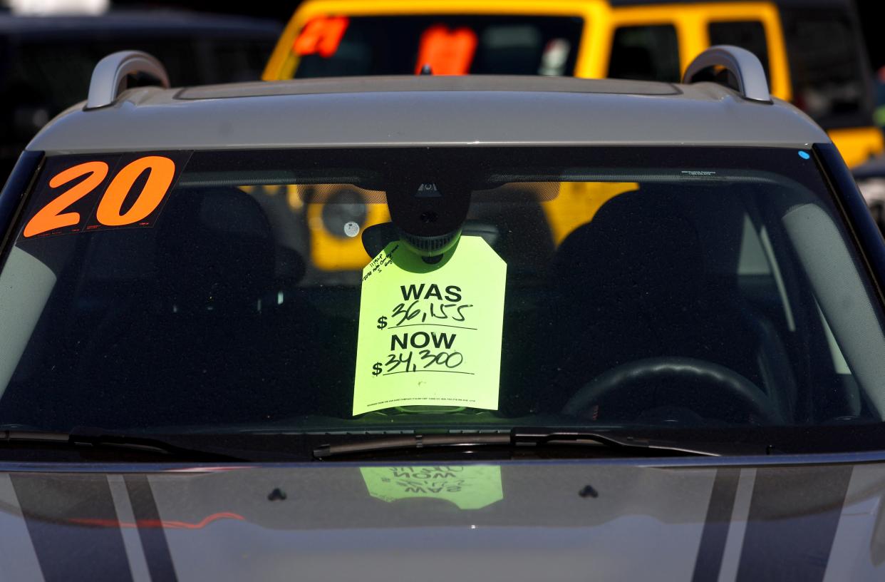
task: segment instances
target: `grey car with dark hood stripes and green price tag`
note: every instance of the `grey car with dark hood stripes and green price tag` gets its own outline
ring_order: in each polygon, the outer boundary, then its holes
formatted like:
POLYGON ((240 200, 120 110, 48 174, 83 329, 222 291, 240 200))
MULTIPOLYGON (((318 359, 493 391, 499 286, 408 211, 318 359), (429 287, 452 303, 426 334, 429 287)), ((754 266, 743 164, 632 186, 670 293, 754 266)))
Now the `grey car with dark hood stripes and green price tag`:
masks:
POLYGON ((881 580, 885 244, 750 52, 132 74, 0 194, 5 578, 881 580))

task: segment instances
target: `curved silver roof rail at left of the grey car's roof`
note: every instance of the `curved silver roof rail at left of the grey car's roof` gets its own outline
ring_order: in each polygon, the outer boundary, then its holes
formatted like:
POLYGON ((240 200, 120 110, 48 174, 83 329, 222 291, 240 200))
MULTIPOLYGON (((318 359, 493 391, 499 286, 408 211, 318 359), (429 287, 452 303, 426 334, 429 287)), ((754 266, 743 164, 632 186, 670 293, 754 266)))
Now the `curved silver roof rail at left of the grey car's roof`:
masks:
POLYGON ((141 50, 120 50, 98 61, 89 81, 89 98, 84 109, 97 109, 112 105, 119 94, 127 89, 130 74, 149 74, 159 84, 169 89, 169 75, 157 58, 141 50))

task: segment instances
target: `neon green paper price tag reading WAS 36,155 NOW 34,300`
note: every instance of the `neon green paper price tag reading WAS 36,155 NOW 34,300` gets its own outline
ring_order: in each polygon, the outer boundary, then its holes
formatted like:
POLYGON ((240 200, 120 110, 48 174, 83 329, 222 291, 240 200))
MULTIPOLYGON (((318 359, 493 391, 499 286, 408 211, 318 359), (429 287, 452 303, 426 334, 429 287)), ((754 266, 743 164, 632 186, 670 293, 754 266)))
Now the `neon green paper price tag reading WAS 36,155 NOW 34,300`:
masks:
POLYGON ((461 237, 435 265, 388 244, 363 269, 353 415, 496 410, 506 270, 481 237, 461 237))

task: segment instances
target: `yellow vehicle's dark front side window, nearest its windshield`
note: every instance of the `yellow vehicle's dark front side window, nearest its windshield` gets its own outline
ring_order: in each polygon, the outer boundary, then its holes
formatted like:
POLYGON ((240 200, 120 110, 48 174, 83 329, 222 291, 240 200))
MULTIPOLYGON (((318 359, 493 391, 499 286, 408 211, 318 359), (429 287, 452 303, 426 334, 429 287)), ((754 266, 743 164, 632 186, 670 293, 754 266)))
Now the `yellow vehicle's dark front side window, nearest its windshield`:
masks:
POLYGON ((620 27, 614 33, 608 76, 679 82, 679 47, 672 25, 620 27))

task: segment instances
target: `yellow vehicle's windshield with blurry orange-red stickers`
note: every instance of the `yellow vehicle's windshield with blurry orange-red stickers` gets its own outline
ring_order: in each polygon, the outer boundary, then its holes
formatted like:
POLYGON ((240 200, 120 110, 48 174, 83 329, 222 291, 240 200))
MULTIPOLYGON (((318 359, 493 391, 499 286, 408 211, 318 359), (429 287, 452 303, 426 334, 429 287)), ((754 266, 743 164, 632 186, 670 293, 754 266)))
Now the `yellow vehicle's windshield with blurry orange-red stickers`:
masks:
POLYGON ((433 74, 570 75, 582 26, 565 17, 320 17, 304 25, 289 66, 296 77, 415 74, 425 65, 433 74))

